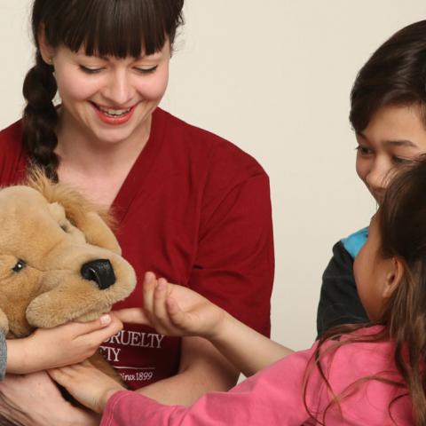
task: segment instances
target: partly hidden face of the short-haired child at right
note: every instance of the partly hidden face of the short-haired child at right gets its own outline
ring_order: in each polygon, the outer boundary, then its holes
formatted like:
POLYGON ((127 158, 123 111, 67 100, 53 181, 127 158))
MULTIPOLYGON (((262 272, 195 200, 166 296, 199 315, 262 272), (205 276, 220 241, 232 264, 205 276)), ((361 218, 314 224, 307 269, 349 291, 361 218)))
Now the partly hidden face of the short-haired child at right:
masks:
POLYGON ((418 106, 383 106, 357 133, 357 173, 379 203, 391 171, 426 152, 426 127, 418 106))

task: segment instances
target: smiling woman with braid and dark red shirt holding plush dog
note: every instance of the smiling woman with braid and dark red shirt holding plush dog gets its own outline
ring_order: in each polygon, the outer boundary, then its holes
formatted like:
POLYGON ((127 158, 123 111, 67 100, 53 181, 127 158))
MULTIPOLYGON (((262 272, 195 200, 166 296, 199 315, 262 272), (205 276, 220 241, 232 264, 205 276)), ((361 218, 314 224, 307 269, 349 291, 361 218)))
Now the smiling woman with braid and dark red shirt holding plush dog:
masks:
MULTIPOLYGON (((154 271, 268 335, 273 278, 268 177, 230 142, 158 106, 183 4, 35 0, 36 65, 24 82, 22 120, 0 132, 0 185, 19 182, 28 166, 43 168, 111 209, 123 256, 139 282, 154 271)), ((114 309, 138 306, 141 297, 139 285, 114 309)), ((205 340, 168 337, 146 326, 124 324, 101 349, 130 389, 142 388, 164 403, 189 404, 206 390, 229 389, 238 376, 205 340)), ((44 350, 37 346, 38 353, 44 350)), ((37 377, 51 386, 43 374, 37 377)), ((59 397, 42 394, 37 401, 15 391, 29 388, 23 380, 6 376, 0 383, 0 397, 8 401, 0 413, 14 418, 8 410, 23 404, 27 417, 50 416, 16 419, 24 424, 79 424, 76 409, 69 414, 59 397), (62 418, 61 410, 67 412, 62 418)))

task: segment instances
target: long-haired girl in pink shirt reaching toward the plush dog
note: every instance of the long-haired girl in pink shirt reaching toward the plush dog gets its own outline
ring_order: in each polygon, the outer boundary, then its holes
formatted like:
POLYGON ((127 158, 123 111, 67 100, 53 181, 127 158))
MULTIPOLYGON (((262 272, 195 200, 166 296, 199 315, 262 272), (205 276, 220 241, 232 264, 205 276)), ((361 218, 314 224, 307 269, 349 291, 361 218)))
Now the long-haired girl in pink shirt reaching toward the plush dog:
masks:
MULTIPOLYGON (((403 167, 403 166, 401 166, 403 167)), ((426 156, 399 170, 355 259, 371 322, 293 352, 193 292, 147 273, 144 309, 120 319, 209 340, 248 379, 192 406, 124 390, 87 361, 50 371, 101 425, 425 425, 426 156)))

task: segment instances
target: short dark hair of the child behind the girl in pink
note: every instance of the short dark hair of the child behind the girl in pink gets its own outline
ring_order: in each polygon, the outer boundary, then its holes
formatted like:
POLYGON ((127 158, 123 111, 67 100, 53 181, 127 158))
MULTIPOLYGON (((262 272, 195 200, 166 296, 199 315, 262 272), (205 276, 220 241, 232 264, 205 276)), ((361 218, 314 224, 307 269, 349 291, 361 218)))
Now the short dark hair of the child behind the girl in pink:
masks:
POLYGON ((351 91, 352 128, 366 129, 382 106, 412 105, 426 125, 426 20, 400 29, 359 70, 351 91))

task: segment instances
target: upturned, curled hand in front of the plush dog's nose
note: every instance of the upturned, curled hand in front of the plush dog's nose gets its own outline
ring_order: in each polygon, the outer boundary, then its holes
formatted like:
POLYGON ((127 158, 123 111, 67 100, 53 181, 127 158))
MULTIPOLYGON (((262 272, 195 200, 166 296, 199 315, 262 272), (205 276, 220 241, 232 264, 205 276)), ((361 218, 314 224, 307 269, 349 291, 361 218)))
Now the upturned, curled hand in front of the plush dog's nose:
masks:
POLYGON ((217 335, 225 311, 190 288, 156 280, 146 272, 143 284, 144 308, 115 312, 122 322, 148 324, 164 335, 217 335))

